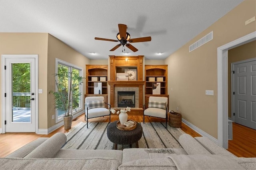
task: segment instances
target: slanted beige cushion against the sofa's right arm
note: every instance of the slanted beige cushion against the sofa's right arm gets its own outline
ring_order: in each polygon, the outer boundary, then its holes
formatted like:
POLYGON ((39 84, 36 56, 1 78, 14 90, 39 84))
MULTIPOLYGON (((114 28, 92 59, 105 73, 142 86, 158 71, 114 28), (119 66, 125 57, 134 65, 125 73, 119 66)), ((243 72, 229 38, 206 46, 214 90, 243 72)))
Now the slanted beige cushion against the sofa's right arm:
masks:
POLYGON ((183 133, 179 137, 179 143, 188 154, 211 154, 196 139, 187 133, 183 133))

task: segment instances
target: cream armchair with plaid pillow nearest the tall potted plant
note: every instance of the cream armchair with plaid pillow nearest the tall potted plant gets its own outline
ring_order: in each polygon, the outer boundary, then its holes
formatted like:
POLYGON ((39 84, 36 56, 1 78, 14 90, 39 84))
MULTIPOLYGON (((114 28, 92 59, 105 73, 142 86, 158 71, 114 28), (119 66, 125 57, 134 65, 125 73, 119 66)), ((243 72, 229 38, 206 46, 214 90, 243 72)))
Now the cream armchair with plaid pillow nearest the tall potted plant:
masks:
POLYGON ((87 121, 88 128, 88 119, 94 117, 101 117, 109 115, 110 123, 110 104, 104 102, 104 97, 86 97, 85 98, 85 117, 84 120, 87 121))

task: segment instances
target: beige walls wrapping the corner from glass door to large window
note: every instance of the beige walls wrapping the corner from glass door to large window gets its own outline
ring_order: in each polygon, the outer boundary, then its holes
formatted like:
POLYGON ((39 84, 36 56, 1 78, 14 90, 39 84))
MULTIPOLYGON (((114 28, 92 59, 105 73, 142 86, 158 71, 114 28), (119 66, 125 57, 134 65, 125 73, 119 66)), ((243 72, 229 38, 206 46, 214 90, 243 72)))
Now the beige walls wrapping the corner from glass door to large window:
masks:
MULTIPOLYGON (((38 129, 49 129, 56 124, 52 119, 52 115, 55 114, 54 97, 48 94, 50 90, 55 90, 54 76, 52 76, 55 73, 55 59, 83 68, 84 77, 85 65, 89 64, 90 60, 48 33, 0 33, 0 37, 1 55, 38 54, 38 88, 43 89, 43 93, 38 94, 38 129)), ((1 86, 0 90, 2 90, 1 86)), ((83 90, 85 93, 85 84, 83 90)))

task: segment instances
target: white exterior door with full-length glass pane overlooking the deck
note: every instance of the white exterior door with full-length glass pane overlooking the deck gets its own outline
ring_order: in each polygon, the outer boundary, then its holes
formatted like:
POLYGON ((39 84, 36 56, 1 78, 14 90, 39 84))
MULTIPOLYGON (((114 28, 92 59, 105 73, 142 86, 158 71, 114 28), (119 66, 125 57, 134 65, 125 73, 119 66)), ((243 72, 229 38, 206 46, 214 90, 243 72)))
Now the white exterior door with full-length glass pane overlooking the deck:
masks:
POLYGON ((6 58, 6 132, 36 132, 35 58, 6 58))

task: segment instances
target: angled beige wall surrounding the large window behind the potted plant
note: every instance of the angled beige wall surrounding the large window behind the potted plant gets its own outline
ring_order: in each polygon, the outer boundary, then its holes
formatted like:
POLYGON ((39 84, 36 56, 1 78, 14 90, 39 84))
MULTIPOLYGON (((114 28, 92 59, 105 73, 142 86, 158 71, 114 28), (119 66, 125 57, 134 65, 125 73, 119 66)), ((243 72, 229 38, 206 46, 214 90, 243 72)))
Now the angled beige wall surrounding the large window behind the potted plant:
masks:
MULTIPOLYGON (((48 76, 48 82, 47 82, 47 93, 50 90, 55 90, 55 84, 54 84, 54 76, 52 74, 55 73, 55 59, 60 59, 63 61, 66 61, 68 63, 74 64, 76 66, 79 66, 83 68, 84 70, 84 77, 86 77, 86 69, 85 65, 90 63, 90 60, 80 53, 76 52, 74 49, 69 47, 68 45, 64 44, 62 41, 58 40, 57 38, 53 37, 52 35, 49 34, 48 36, 48 71, 47 71, 47 76, 48 76)), ((85 82, 85 81, 84 81, 85 82)), ((84 92, 86 92, 86 83, 84 85, 84 92)), ((82 94, 82 96, 84 96, 82 94)), ((55 120, 52 119, 52 115, 55 114, 55 109, 54 109, 54 96, 48 95, 47 98, 47 104, 48 104, 48 115, 47 117, 44 117, 44 119, 47 118, 48 122, 48 128, 52 127, 55 125, 55 120)), ((84 101, 84 97, 82 97, 82 100, 84 101)), ((84 108, 84 106, 82 106, 84 108)))

